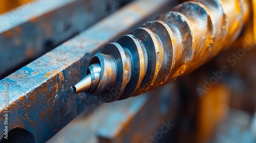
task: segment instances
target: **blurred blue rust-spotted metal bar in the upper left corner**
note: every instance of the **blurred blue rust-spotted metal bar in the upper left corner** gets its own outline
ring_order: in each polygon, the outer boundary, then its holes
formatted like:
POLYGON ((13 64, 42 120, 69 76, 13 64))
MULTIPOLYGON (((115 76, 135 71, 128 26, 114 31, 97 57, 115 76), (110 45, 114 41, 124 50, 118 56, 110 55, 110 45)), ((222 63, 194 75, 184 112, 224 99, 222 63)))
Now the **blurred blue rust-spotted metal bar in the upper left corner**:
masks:
POLYGON ((39 0, 0 15, 0 76, 48 52, 111 12, 109 2, 104 0, 39 0))

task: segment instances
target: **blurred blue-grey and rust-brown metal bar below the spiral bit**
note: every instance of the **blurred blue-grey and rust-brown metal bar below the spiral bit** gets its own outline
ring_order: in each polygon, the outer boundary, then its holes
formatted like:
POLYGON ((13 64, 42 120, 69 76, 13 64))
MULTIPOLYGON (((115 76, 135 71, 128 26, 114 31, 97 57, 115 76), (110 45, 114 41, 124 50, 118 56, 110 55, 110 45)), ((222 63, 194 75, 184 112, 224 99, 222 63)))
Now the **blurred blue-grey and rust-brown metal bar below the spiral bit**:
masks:
POLYGON ((169 136, 174 131, 179 97, 176 83, 171 83, 142 96, 110 104, 93 104, 94 112, 74 118, 48 143, 154 142, 150 136, 157 142, 164 142, 158 136, 169 136), (164 133, 160 130, 162 126, 164 133))

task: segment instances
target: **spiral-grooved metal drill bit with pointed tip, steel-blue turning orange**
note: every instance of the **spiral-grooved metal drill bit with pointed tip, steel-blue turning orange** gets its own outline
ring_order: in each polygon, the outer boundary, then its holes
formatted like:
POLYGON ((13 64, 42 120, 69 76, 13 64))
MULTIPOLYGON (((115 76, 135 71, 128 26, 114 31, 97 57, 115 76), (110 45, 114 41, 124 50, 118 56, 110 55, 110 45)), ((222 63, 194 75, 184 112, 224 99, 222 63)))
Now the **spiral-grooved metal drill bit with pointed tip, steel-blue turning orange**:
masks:
POLYGON ((144 23, 143 28, 106 44, 91 59, 87 71, 91 76, 73 88, 83 90, 72 91, 86 91, 103 102, 113 102, 174 81, 236 40, 249 15, 249 3, 198 0, 180 4, 144 23))

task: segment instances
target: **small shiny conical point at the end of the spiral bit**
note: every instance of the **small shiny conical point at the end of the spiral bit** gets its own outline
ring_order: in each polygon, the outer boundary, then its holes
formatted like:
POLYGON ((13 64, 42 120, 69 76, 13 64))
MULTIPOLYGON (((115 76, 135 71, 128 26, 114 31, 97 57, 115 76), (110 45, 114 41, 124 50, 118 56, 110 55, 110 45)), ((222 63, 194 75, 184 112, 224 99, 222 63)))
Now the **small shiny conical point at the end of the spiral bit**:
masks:
POLYGON ((71 87, 73 93, 80 93, 90 90, 92 85, 91 74, 88 74, 85 78, 79 81, 76 85, 71 87))

